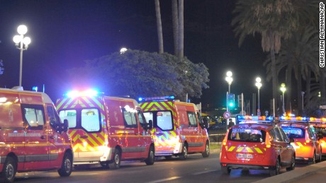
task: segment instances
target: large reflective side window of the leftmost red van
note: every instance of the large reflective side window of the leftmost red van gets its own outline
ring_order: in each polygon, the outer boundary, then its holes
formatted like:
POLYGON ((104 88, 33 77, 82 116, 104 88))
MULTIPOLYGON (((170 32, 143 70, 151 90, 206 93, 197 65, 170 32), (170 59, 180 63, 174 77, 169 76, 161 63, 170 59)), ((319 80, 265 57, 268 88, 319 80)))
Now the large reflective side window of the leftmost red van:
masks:
POLYGON ((45 113, 43 105, 21 105, 24 124, 28 129, 43 129, 45 113))

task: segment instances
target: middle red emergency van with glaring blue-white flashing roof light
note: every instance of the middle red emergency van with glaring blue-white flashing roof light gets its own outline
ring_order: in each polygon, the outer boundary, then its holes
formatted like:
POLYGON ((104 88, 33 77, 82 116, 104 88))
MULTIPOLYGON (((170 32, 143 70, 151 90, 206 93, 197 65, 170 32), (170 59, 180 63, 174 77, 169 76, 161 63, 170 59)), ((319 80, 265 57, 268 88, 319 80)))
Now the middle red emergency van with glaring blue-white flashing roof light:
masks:
POLYGON ((152 122, 146 122, 136 100, 72 91, 57 100, 57 110, 69 121, 74 165, 101 163, 118 169, 122 160, 154 164, 152 122))

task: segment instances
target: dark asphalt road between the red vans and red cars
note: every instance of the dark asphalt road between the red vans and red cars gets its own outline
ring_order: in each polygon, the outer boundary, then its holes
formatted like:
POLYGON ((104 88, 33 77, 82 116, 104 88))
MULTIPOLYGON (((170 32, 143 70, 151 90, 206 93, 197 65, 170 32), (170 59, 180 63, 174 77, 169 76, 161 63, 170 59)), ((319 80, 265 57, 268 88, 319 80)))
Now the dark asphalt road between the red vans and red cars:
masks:
MULTIPOLYGON (((201 154, 189 155, 188 160, 159 158, 154 165, 139 161, 121 164, 118 170, 109 170, 99 165, 81 166, 69 177, 60 177, 56 171, 19 173, 16 182, 255 182, 269 177, 264 170, 232 170, 230 175, 220 171, 219 155, 209 158, 201 154)), ((297 165, 296 168, 305 165, 297 165)), ((281 170, 281 173, 286 170, 281 170)))

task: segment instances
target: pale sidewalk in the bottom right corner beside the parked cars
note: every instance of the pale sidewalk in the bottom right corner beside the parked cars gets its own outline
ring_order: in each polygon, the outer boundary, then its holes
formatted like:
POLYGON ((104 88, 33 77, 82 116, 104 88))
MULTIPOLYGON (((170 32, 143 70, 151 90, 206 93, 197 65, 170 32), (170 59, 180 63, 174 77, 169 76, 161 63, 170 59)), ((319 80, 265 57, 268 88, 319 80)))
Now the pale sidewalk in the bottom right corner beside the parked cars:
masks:
MULTIPOLYGON (((326 161, 323 161, 321 163, 316 163, 314 165, 308 165, 306 167, 295 169, 290 172, 284 172, 280 175, 276 175, 266 179, 261 179, 256 183, 295 182, 296 180, 302 179, 303 177, 308 177, 310 175, 314 175, 315 173, 320 171, 326 171, 326 161)), ((323 179, 326 178, 323 177, 323 179)), ((318 182, 318 181, 314 181, 312 179, 311 182, 318 182)))

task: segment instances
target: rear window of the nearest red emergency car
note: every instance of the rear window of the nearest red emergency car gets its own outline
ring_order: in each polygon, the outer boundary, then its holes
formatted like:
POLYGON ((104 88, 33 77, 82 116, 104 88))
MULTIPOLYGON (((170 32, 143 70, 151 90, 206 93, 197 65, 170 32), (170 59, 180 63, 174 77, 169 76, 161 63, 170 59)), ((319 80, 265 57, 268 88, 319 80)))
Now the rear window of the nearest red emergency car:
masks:
POLYGON ((251 128, 234 128, 230 129, 228 140, 231 141, 246 141, 246 142, 264 142, 266 132, 260 129, 251 128))

